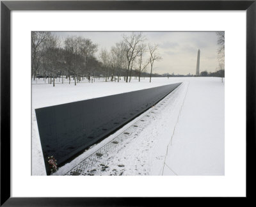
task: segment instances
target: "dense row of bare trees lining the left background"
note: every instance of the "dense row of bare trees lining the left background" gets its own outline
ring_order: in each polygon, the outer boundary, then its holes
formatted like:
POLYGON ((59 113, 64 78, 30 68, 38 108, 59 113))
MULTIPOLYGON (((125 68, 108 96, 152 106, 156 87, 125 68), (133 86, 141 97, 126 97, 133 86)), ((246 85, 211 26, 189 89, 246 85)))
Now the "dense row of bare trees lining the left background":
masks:
POLYGON ((151 45, 142 33, 122 35, 122 41, 110 50, 103 49, 96 53, 99 45, 82 36, 69 36, 61 39, 51 32, 32 32, 31 35, 31 79, 42 77, 49 84, 61 77, 74 79, 77 82, 84 78, 90 81, 95 77, 104 77, 105 81, 131 82, 136 75, 138 81, 141 74, 150 68, 150 82, 153 66, 161 57, 157 54, 157 45, 151 45))

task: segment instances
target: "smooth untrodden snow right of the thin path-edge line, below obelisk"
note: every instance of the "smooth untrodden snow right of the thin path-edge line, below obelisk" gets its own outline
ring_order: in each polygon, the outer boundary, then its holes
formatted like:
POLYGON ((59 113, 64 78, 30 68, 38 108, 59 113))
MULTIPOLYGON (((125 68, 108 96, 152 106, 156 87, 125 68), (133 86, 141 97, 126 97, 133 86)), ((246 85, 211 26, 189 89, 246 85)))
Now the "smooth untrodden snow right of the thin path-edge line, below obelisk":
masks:
POLYGON ((224 175, 224 114, 220 79, 189 80, 166 165, 178 175, 224 175))

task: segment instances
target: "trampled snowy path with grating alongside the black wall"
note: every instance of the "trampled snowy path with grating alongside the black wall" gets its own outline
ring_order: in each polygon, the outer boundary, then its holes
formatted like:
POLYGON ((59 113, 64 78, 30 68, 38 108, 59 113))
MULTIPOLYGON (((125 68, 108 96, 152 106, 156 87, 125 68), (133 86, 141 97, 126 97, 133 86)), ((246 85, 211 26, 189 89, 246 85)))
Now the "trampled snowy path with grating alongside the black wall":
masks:
MULTIPOLYGON (((161 175, 188 82, 54 175, 161 175)), ((171 174, 172 171, 170 171, 171 174)))

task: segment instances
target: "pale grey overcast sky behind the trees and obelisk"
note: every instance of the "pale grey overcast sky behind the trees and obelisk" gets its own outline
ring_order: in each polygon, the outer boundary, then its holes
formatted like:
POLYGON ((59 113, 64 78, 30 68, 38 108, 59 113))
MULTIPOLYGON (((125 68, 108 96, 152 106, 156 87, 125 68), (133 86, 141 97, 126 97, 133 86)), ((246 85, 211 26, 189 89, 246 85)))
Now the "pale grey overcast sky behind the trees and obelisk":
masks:
MULTIPOLYGON (((52 32, 58 36, 83 36, 97 43, 101 49, 110 50, 122 40, 122 34, 130 32, 52 32)), ((131 33, 130 33, 131 34, 131 33)), ((159 45, 163 59, 154 63, 154 73, 195 75, 196 58, 200 49, 200 72, 214 72, 218 68, 217 36, 215 32, 143 32, 147 42, 159 45)), ((96 56, 99 56, 97 52, 96 56)))

